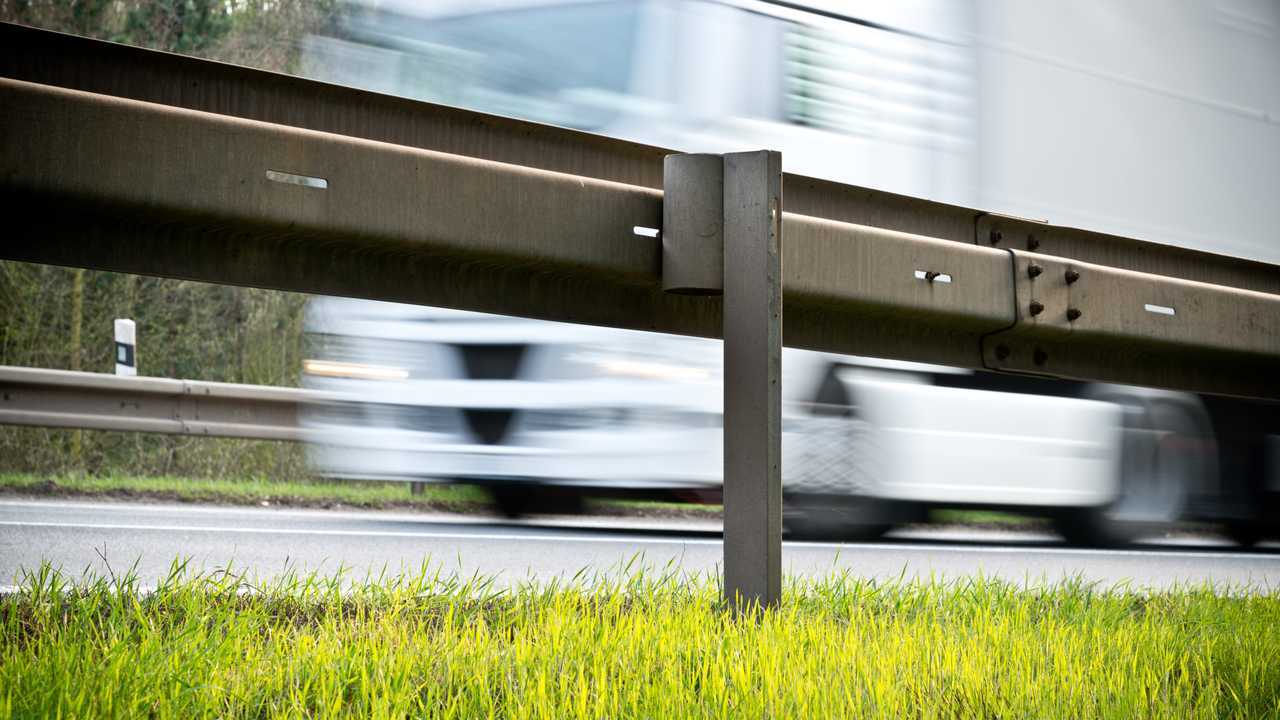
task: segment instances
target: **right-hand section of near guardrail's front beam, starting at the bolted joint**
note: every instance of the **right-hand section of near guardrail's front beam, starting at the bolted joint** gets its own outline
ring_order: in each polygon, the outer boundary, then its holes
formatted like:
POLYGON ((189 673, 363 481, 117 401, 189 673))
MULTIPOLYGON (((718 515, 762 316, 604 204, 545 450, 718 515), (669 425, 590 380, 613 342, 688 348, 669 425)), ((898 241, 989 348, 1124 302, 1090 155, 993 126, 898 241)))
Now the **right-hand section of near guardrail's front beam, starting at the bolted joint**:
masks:
POLYGON ((1010 254, 1015 322, 983 338, 986 368, 1110 382, 1142 377, 1157 387, 1229 395, 1275 392, 1280 296, 1010 254), (1230 378, 1201 369, 1224 357, 1235 370, 1230 378))

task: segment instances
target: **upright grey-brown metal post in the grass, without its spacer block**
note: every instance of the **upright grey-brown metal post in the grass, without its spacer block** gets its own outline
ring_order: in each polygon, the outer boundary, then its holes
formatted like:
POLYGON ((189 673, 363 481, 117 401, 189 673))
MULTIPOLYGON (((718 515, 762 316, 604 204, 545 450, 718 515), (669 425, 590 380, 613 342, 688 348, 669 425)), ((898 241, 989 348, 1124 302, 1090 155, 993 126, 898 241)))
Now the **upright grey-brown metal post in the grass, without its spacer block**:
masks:
POLYGON ((724 155, 724 597, 782 593, 782 155, 724 155))

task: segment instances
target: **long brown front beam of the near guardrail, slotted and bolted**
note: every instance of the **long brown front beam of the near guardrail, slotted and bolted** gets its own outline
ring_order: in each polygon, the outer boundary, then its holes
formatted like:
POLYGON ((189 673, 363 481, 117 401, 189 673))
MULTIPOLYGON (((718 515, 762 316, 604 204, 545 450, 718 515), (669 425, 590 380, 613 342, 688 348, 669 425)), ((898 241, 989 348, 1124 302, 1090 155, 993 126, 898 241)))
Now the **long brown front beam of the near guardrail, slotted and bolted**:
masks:
MULTIPOLYGON (((662 241, 635 232, 660 225, 657 190, 12 79, 0 108, 3 258, 721 334, 721 300, 664 293, 662 241)), ((1280 393, 1276 295, 1112 268, 1079 286, 1082 318, 1033 337, 1065 309, 1028 316, 1020 252, 783 224, 788 346, 1280 393), (1170 293, 1179 315, 1133 311, 1170 293), (1051 361, 1020 361, 1037 350, 1051 361)))

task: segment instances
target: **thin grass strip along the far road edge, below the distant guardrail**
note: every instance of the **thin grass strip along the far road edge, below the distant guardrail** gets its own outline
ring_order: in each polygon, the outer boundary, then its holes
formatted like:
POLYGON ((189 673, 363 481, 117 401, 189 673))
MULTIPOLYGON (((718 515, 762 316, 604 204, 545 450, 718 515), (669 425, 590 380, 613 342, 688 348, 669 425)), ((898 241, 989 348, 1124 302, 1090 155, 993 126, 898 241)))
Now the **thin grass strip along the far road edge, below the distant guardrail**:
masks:
POLYGON ((269 478, 170 478, 132 475, 0 474, 0 492, 24 495, 108 496, 175 502, 291 505, 365 509, 408 507, 479 511, 488 502, 472 486, 426 486, 412 495, 408 483, 274 480, 269 478))

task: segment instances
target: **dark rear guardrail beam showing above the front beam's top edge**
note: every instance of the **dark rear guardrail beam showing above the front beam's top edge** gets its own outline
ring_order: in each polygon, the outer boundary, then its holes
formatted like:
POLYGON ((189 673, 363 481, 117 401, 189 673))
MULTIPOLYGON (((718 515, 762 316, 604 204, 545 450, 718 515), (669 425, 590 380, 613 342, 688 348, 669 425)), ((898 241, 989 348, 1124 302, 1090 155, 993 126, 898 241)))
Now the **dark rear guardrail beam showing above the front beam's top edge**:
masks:
MULTIPOLYGON (((0 77, 662 188, 673 150, 0 23, 0 77)), ((696 150, 696 149, 681 149, 696 150)), ((795 214, 1280 293, 1275 266, 783 174, 795 214), (992 237, 1000 240, 991 242, 992 237), (1034 247, 1030 247, 1034 246, 1034 247)))

